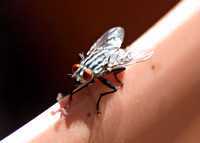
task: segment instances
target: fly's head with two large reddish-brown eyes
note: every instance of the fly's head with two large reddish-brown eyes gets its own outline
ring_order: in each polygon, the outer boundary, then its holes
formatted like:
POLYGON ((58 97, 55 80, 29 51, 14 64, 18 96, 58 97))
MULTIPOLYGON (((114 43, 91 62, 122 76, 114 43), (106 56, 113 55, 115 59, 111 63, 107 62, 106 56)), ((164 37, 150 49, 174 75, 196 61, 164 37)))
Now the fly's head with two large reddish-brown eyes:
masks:
POLYGON ((72 73, 72 77, 81 83, 89 82, 94 77, 92 71, 81 64, 74 64, 72 67, 72 73))

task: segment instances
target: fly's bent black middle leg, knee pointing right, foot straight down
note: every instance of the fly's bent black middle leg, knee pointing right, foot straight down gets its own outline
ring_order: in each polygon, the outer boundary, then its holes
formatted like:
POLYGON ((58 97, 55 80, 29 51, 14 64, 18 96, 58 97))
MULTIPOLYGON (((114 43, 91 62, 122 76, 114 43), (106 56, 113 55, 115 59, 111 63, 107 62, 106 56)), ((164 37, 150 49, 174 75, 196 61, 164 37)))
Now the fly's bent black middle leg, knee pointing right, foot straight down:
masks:
POLYGON ((104 92, 104 93, 101 93, 98 101, 97 101, 97 115, 100 116, 101 115, 101 111, 100 111, 100 108, 99 108, 99 103, 101 101, 101 98, 104 96, 104 95, 107 95, 107 94, 110 94, 110 93, 113 93, 113 92, 116 92, 117 91, 117 87, 115 85, 113 85, 112 83, 110 83, 108 80, 106 80, 105 78, 103 77, 99 77, 98 78, 102 83, 104 83, 106 86, 110 87, 113 89, 113 91, 108 91, 108 92, 104 92))

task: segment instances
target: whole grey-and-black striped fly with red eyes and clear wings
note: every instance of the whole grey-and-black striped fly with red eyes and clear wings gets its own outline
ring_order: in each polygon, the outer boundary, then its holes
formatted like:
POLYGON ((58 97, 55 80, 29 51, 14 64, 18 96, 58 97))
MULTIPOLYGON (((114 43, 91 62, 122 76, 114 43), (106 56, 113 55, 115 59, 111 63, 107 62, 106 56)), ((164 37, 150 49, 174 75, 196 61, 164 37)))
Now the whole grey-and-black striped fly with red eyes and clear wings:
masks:
POLYGON ((111 88, 111 91, 100 94, 97 101, 97 115, 100 115, 99 103, 104 95, 117 91, 117 86, 103 78, 104 75, 113 73, 116 80, 123 85, 117 78, 117 74, 124 71, 126 66, 142 62, 149 59, 153 55, 152 50, 139 50, 129 48, 121 49, 121 44, 124 39, 124 29, 122 27, 114 27, 104 33, 87 52, 86 57, 83 53, 79 54, 79 64, 74 64, 72 67, 72 77, 75 82, 70 92, 69 103, 72 101, 72 96, 81 89, 94 82, 94 78, 98 78, 102 83, 111 88), (76 85, 83 86, 74 90, 76 85))

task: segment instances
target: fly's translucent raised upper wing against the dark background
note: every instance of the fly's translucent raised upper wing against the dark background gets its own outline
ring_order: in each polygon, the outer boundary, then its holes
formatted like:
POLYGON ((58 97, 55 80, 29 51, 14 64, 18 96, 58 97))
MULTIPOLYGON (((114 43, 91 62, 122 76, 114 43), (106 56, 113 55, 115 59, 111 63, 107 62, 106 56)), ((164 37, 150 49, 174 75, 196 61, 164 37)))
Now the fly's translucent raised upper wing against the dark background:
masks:
POLYGON ((101 50, 115 51, 121 47, 123 39, 124 29, 122 27, 111 28, 93 44, 87 56, 101 50))

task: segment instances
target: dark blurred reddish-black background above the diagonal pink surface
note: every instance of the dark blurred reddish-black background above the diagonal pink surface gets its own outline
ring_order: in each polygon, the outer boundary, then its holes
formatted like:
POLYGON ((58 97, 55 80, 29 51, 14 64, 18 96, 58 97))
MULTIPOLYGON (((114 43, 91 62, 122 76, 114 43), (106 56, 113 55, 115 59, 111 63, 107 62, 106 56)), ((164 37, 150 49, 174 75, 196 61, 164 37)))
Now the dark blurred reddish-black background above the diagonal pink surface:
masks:
POLYGON ((68 93, 67 76, 106 30, 126 30, 131 44, 178 0, 1 0, 0 139, 68 93))

